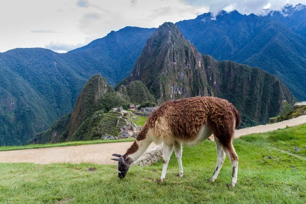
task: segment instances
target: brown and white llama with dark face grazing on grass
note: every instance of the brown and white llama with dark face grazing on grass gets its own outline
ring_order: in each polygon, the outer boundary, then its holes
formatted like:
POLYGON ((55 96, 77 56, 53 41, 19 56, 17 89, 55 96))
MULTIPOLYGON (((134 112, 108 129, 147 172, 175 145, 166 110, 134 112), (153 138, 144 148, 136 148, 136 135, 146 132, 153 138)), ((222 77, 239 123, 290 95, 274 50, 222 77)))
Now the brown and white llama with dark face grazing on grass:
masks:
POLYGON ((151 142, 163 145, 163 170, 159 183, 166 176, 173 148, 179 162, 179 174, 183 176, 182 144, 193 146, 214 134, 217 149, 217 166, 212 179, 220 172, 225 155, 233 168, 232 184, 237 183, 238 156, 232 144, 235 129, 240 124, 240 113, 227 100, 217 97, 191 97, 169 100, 156 109, 147 119, 136 141, 126 153, 112 160, 118 161, 118 177, 124 178, 131 164, 148 148, 151 142))

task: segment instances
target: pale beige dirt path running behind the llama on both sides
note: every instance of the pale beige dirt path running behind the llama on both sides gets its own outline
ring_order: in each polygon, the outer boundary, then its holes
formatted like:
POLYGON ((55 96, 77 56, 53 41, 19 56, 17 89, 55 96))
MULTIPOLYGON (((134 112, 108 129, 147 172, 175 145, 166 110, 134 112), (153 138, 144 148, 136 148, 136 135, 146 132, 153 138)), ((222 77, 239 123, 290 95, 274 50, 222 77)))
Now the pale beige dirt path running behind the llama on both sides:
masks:
MULTIPOLYGON (((259 125, 246 129, 237 130, 235 137, 253 133, 265 133, 277 129, 284 129, 286 126, 295 126, 306 123, 306 115, 275 124, 259 125)), ((96 163, 116 164, 110 160, 113 153, 123 154, 133 142, 90 144, 81 146, 52 147, 42 149, 26 149, 14 151, 0 151, 0 163, 29 162, 36 164, 50 163, 96 163)), ((151 144, 147 151, 154 148, 151 144)))

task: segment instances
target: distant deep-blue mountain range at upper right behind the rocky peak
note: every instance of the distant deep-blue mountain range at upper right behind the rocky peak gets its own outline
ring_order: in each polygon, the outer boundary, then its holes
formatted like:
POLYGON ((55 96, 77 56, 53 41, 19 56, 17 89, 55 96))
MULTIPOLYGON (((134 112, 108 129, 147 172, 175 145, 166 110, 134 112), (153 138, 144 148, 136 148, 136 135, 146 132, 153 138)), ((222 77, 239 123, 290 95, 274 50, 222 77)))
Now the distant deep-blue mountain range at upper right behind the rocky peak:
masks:
POLYGON ((306 100, 306 7, 286 6, 267 16, 222 11, 177 22, 200 53, 276 75, 299 100, 306 100))

